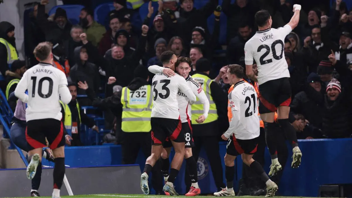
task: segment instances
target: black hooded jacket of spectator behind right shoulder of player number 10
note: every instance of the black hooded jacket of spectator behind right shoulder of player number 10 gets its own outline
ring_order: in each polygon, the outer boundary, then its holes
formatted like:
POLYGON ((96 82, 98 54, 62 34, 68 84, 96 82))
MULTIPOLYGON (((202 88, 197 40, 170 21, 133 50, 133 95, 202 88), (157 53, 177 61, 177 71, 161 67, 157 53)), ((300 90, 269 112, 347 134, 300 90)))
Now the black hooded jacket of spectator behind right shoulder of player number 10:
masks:
MULTIPOLYGON (((70 77, 72 82, 86 81, 89 87, 92 87, 95 92, 98 92, 100 86, 100 76, 98 67, 95 64, 86 61, 82 64, 80 52, 82 47, 77 47, 74 50, 76 64, 70 69, 70 77)), ((83 89, 77 88, 77 94, 85 94, 83 89)))

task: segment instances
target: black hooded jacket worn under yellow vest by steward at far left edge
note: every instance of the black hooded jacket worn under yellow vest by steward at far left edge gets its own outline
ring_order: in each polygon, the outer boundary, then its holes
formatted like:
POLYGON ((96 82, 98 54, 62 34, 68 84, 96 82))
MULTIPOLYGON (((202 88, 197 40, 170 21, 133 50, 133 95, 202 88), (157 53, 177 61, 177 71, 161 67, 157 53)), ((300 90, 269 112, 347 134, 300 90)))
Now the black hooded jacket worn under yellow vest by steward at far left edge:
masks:
MULTIPOLYGON (((11 43, 11 45, 16 48, 15 38, 9 38, 7 33, 14 30, 15 26, 7 21, 0 22, 0 38, 5 39, 7 42, 11 43)), ((6 46, 0 43, 0 72, 2 75, 5 75, 6 70, 10 68, 7 65, 7 49, 6 46)))

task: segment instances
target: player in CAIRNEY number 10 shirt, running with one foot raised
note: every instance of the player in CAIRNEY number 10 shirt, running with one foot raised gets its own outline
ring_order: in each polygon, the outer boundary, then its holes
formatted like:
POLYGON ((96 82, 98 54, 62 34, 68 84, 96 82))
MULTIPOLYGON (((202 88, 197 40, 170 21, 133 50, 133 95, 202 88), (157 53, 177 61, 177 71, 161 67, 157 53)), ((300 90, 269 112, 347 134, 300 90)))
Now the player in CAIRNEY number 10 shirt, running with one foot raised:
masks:
POLYGON ((52 44, 49 42, 37 45, 33 53, 39 64, 24 73, 15 89, 15 96, 27 103, 26 140, 31 157, 26 172, 27 178, 33 179, 36 174, 38 164, 42 161, 42 148, 46 147, 46 138, 55 156, 52 197, 57 198, 60 197, 65 174, 65 137, 59 100, 68 104, 72 96, 67 87, 66 75, 52 65, 51 49, 52 44), (25 94, 26 90, 28 95, 25 94))

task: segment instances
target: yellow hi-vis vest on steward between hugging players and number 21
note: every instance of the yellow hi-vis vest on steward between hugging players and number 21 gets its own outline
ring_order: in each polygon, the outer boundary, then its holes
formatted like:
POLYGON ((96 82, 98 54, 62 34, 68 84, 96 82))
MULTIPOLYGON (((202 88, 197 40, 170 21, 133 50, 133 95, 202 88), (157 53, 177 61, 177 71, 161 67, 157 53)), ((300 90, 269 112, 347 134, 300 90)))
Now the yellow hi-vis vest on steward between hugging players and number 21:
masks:
MULTIPOLYGON (((213 80, 203 74, 194 74, 192 78, 202 86, 202 89, 204 90, 205 95, 209 100, 210 107, 209 107, 208 117, 202 124, 214 122, 215 120, 218 119, 218 112, 216 111, 216 105, 213 101, 213 97, 210 94, 210 83, 212 83, 213 80)), ((198 97, 197 97, 197 101, 193 105, 191 105, 191 110, 192 110, 192 120, 196 120, 198 119, 199 116, 203 115, 203 104, 201 103, 198 97)), ((193 122, 192 124, 198 124, 198 123, 193 122)))

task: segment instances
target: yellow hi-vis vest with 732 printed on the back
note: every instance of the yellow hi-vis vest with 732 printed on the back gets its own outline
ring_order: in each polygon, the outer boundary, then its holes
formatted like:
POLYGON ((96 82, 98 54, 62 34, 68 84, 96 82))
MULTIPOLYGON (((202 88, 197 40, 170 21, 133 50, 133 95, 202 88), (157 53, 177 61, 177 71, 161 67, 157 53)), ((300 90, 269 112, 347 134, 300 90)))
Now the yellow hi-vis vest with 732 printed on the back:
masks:
POLYGON ((153 92, 150 85, 139 87, 131 91, 122 88, 122 123, 124 132, 149 132, 151 131, 150 116, 153 106, 153 92))

